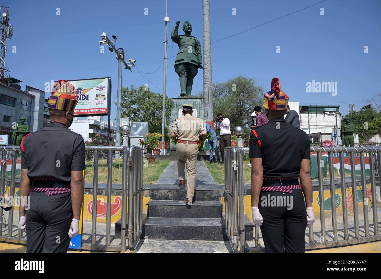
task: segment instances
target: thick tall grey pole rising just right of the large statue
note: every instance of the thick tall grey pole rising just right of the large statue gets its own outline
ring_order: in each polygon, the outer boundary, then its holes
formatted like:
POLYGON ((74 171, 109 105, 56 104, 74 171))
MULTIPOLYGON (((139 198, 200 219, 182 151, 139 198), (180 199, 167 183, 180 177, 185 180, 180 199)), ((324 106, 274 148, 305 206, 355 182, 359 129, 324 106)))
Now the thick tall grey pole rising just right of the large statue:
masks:
POLYGON ((209 124, 213 125, 209 0, 202 1, 202 35, 204 53, 204 117, 206 122, 209 122, 209 124))

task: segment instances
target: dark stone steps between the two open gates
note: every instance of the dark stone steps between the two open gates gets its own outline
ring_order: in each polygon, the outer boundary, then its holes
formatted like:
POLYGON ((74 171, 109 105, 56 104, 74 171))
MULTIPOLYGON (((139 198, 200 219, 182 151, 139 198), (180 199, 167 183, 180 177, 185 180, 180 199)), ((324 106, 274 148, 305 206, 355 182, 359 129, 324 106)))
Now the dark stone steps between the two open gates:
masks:
MULTIPOLYGON (((195 201, 186 204, 186 188, 178 185, 152 185, 143 221, 141 238, 199 241, 227 241, 221 185, 197 185, 195 201)), ((115 236, 120 233, 115 224, 115 236)), ((245 216, 245 238, 253 240, 254 224, 245 216)))

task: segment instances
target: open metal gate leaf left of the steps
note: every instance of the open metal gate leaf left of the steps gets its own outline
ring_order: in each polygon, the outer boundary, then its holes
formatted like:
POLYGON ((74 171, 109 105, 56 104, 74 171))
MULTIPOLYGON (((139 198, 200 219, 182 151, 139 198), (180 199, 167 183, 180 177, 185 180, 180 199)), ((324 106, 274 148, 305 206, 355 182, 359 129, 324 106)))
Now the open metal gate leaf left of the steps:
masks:
POLYGON ((127 238, 128 247, 133 249, 140 239, 143 228, 143 148, 131 146, 128 155, 127 238))

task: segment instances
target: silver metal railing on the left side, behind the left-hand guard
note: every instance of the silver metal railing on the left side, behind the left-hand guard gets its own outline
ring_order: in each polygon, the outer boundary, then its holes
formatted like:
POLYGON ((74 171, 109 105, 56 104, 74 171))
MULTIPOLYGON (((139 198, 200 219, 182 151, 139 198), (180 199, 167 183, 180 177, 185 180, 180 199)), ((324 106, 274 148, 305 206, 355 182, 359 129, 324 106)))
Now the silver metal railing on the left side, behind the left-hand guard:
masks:
MULTIPOLYGON (((120 251, 125 252, 128 239, 128 247, 133 248, 137 239, 139 239, 142 231, 142 167, 143 167, 143 150, 141 147, 131 146, 86 146, 86 152, 94 153, 94 173, 93 173, 93 201, 91 216, 91 242, 82 243, 82 250, 104 250, 104 251, 120 251), (106 208, 106 235, 105 244, 97 241, 97 201, 98 201, 98 172, 99 172, 99 152, 107 152, 107 208, 106 208), (111 235, 111 196, 112 196, 112 167, 113 167, 113 151, 122 151, 122 205, 121 205, 121 237, 119 245, 112 245, 114 239, 111 235), (127 193, 128 191, 128 193, 127 193), (131 197, 128 210, 128 234, 127 228, 127 197, 131 197)), ((17 154, 20 146, 4 146, 0 150, 2 159, 2 172, 0 181, 0 196, 4 197, 5 188, 9 187, 9 197, 15 197, 16 186, 16 163, 17 154), (6 162, 11 154, 11 176, 6 177, 6 162)), ((9 160, 8 160, 9 161, 9 160)), ((86 183, 86 181, 85 181, 86 183)), ((14 207, 8 212, 0 208, 0 241, 26 244, 24 233, 17 229, 17 225, 13 224, 14 207), (3 235, 3 220, 7 221, 6 234, 3 235), (14 231, 16 229, 16 232, 14 231)), ((18 220, 17 220, 18 221, 18 220)), ((18 222, 17 222, 18 224, 18 222)), ((99 236, 99 235, 98 235, 99 236)))

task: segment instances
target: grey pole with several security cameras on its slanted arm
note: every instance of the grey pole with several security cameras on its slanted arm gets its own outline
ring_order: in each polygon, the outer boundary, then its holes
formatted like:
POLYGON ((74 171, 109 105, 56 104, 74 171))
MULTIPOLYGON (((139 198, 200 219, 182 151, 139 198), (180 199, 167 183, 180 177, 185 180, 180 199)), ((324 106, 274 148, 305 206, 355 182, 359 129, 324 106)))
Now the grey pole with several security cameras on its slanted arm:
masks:
MULTIPOLYGON (((124 49, 118 48, 116 49, 114 46, 114 42, 117 40, 115 35, 112 36, 114 41, 111 41, 105 32, 102 33, 102 41, 99 41, 99 44, 106 44, 109 46, 109 51, 115 51, 117 60, 118 60, 118 93, 117 93, 117 119, 116 119, 116 143, 115 146, 120 146, 120 105, 122 103, 122 63, 125 66, 126 70, 130 70, 132 72, 131 67, 135 67, 136 60, 129 59, 128 63, 124 60, 124 49)), ((109 112, 110 114, 110 112, 109 112)), ((119 151, 115 151, 115 158, 120 158, 119 151)))

